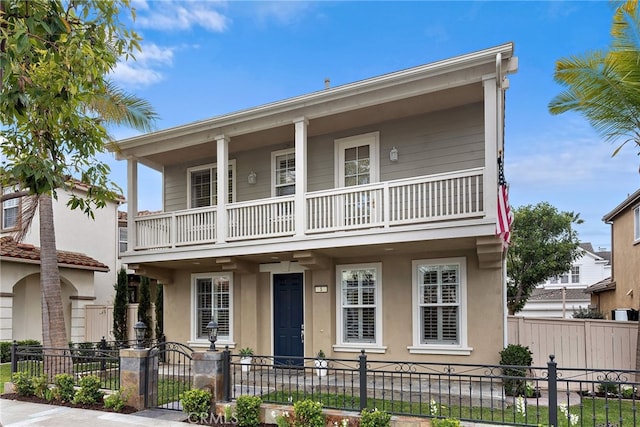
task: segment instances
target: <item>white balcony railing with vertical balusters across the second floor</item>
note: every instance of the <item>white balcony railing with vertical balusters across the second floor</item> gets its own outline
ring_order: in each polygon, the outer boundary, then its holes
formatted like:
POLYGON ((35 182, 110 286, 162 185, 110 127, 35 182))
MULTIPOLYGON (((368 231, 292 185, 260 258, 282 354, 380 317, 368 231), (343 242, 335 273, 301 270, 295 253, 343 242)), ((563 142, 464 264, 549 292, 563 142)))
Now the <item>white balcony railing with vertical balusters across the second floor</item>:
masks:
MULTIPOLYGON (((484 215, 483 168, 428 175, 306 195, 305 234, 391 228, 484 215)), ((227 240, 295 234, 292 196, 227 205, 227 240)), ((217 241, 216 207, 189 209, 135 220, 136 250, 217 241)))

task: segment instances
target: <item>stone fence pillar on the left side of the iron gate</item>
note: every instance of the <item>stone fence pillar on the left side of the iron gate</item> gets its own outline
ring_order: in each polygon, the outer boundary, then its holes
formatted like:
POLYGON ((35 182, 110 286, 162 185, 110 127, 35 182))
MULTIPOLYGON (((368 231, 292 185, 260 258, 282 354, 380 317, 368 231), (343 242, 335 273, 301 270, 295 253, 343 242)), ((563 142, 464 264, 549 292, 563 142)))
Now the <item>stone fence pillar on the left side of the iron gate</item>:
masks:
POLYGON ((149 357, 149 349, 120 350, 120 389, 126 393, 127 405, 145 409, 145 398, 156 402, 158 392, 158 358, 149 357))

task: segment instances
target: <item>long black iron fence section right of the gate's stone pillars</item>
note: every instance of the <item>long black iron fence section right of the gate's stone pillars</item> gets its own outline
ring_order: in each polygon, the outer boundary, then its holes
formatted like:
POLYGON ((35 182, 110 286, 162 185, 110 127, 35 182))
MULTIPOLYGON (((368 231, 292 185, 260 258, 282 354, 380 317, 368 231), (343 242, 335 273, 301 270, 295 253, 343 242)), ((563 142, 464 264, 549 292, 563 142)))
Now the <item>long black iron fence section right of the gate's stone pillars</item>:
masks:
POLYGON ((327 408, 514 426, 640 425, 637 371, 355 359, 281 358, 224 352, 225 399, 310 398, 327 408))

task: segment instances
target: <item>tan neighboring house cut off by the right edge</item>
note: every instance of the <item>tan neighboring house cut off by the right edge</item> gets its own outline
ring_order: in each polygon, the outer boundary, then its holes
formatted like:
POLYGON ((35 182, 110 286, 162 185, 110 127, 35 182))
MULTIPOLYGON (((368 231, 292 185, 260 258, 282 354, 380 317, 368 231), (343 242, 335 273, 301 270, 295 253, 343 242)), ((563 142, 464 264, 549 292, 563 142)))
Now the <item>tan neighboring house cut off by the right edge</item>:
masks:
POLYGON ((612 320, 637 320, 640 309, 640 189, 606 214, 611 224, 611 278, 587 289, 591 304, 612 320))

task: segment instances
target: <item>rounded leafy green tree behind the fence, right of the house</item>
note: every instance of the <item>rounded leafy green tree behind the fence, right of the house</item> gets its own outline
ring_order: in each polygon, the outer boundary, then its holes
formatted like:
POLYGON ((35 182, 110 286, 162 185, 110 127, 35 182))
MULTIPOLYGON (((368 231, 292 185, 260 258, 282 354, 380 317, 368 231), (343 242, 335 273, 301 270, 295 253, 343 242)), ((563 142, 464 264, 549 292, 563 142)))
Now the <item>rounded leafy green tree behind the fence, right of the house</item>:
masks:
POLYGON ((547 202, 514 209, 511 247, 507 252, 507 307, 516 314, 533 289, 553 276, 571 270, 580 254, 579 214, 559 212, 547 202))

